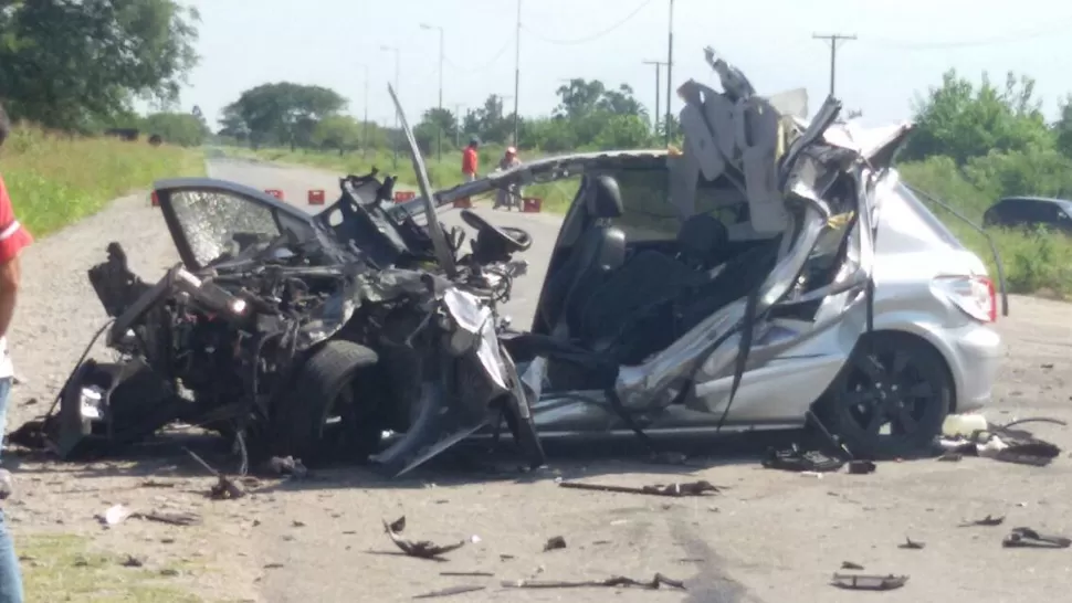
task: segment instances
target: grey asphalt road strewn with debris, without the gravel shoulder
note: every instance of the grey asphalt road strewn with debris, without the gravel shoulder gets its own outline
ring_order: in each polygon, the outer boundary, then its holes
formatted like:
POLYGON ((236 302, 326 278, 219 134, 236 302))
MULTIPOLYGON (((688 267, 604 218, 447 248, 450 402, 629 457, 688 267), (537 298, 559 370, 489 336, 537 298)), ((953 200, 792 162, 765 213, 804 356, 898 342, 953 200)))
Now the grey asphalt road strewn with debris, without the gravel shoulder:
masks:
MULTIPOLYGON (((319 186, 304 169, 227 162, 214 165, 213 173, 262 188, 293 187, 295 193, 303 184, 319 186)), ((445 212, 444 220, 452 213, 445 212)), ((518 285, 519 307, 514 311, 521 324, 546 269, 556 220, 488 214, 527 228, 537 241, 526 254, 533 271, 518 285)), ((996 421, 1039 414, 1072 419, 1072 309, 1016 298, 1012 313, 1000 324, 1009 358, 989 415, 996 421)), ((1063 447, 1072 444, 1060 427, 1043 426, 1038 433, 1063 447)), ((609 593, 591 589, 497 592, 498 581, 534 575, 649 579, 662 572, 686 580, 689 593, 622 590, 614 599, 849 602, 866 593, 837 590, 829 580, 843 561, 853 561, 870 572, 911 575, 904 589, 885 593, 884 601, 1045 601, 1066 594, 1072 550, 1003 549, 1000 542, 1013 526, 1072 533, 1068 458, 1047 468, 985 459, 891 463, 868 476, 817 479, 763 469, 754 459, 722 457, 697 467, 661 467, 637 457, 607 456, 563 451, 549 477, 591 476, 626 485, 704 478, 732 489, 711 498, 664 500, 563 490, 547 478, 533 483, 479 467, 445 475, 429 470, 389 484, 361 470, 332 472, 322 482, 283 486, 274 496, 275 512, 255 535, 259 553, 283 568, 269 572, 263 593, 270 601, 343 601, 359 593, 365 600, 387 601, 477 583, 488 590, 455 599, 601 601, 609 593), (380 520, 403 514, 414 538, 448 542, 476 535, 481 541, 445 563, 380 554, 392 550, 380 520), (992 528, 957 527, 987 515, 1007 515, 1008 520, 992 528), (293 528, 294 519, 305 526, 293 528), (542 552, 546 539, 559 535, 568 548, 542 552), (900 549, 906 536, 926 542, 926 548, 900 549), (439 574, 446 570, 490 571, 495 578, 439 574)))

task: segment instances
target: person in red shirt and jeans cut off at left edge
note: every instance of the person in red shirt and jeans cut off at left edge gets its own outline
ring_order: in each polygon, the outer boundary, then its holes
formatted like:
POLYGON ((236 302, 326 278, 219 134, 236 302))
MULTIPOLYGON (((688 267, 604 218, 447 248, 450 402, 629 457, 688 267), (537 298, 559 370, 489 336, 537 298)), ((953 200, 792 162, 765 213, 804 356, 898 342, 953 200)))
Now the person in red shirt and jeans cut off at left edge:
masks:
MULTIPOLYGON (((11 121, 3 106, 0 105, 0 149, 11 133, 11 121)), ((8 330, 11 317, 14 315, 15 296, 19 292, 21 269, 19 254, 33 242, 29 231, 15 220, 11 209, 8 189, 0 176, 0 436, 3 435, 8 423, 8 400, 11 393, 11 382, 14 380, 14 367, 8 356, 8 330)), ((0 469, 0 500, 11 495, 11 474, 0 469)), ((0 603, 22 603, 22 572, 19 569, 19 558, 14 553, 14 543, 3 520, 0 509, 0 603)))

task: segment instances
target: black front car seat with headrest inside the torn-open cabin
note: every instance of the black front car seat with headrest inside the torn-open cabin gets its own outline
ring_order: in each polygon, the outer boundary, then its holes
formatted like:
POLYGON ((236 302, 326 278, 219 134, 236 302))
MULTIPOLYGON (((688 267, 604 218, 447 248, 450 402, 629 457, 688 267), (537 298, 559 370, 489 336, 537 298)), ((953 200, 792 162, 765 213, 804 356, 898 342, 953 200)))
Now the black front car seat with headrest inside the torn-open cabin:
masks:
POLYGON ((544 292, 540 311, 555 335, 563 335, 561 325, 568 327, 565 316, 568 310, 584 305, 584 298, 626 261, 626 233, 611 224, 611 220, 622 215, 618 181, 610 176, 597 176, 588 182, 586 194, 590 222, 544 292))

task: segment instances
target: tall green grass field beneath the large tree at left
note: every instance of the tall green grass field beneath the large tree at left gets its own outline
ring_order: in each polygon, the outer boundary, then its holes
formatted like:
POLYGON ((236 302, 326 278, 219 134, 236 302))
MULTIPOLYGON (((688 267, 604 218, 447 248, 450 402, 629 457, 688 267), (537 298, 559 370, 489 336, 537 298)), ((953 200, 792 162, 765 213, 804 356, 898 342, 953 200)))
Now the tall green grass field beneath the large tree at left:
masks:
POLYGON ((158 178, 202 176, 204 161, 181 147, 15 128, 0 149, 0 174, 19 220, 41 237, 158 178))

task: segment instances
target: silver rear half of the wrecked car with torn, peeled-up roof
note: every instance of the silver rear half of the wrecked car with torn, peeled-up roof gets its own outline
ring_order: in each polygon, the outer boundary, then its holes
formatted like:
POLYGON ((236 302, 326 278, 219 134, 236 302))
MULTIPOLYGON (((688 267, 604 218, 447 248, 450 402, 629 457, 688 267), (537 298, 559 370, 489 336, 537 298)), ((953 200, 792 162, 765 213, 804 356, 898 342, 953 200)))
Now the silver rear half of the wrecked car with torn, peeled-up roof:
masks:
POLYGON ((580 177, 532 330, 502 335, 539 434, 812 425, 860 457, 928 451, 989 400, 1001 346, 985 264, 892 168, 911 127, 842 123, 834 98, 806 120, 802 91, 764 98, 707 61, 723 91, 679 88, 681 152, 540 159, 437 194, 580 177))

